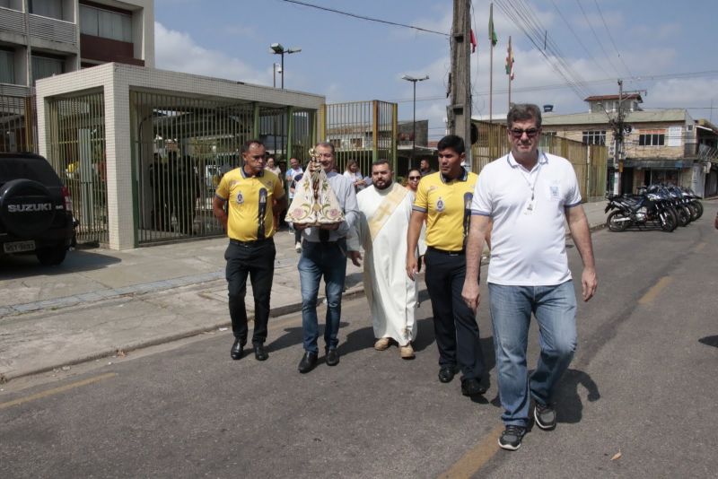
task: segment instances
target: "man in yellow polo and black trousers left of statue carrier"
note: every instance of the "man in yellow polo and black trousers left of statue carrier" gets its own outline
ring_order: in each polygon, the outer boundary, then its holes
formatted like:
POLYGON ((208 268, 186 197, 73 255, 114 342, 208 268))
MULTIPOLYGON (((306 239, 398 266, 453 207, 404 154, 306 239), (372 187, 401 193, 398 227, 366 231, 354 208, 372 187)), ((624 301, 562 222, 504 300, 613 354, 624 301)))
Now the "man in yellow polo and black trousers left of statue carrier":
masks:
POLYGON ((230 355, 241 358, 247 344, 247 275, 254 294, 254 333, 252 345, 258 361, 267 359, 264 348, 269 320, 269 294, 275 274, 275 234, 273 210, 286 206, 285 188, 276 174, 265 170, 265 148, 258 140, 242 146, 244 165, 225 173, 212 202, 216 218, 222 223, 230 244, 224 252, 225 275, 229 290, 230 318, 234 344, 230 355), (225 213, 224 204, 229 205, 225 213))

